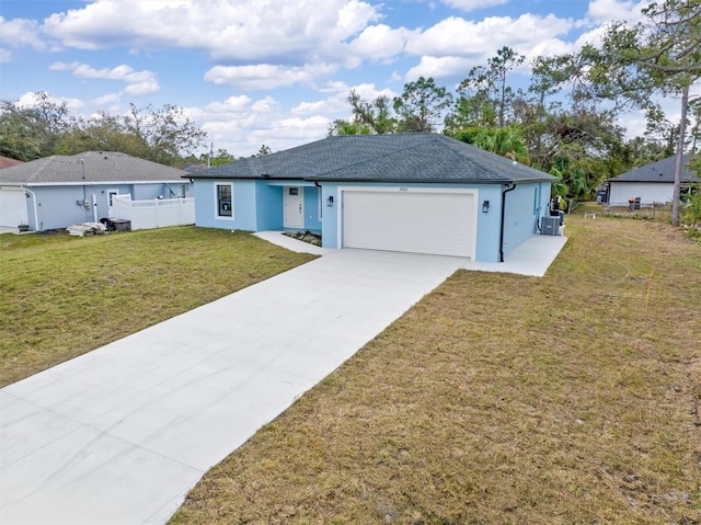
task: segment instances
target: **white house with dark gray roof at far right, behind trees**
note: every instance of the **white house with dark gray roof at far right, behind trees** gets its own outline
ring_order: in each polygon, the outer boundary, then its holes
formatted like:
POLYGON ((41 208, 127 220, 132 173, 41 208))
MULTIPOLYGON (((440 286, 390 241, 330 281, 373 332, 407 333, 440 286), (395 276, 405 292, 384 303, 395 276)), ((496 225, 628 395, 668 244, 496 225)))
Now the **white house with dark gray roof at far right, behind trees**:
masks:
MULTIPOLYGON (((689 184, 700 181, 687 166, 690 160, 690 156, 683 156, 681 169, 682 191, 689 187, 689 184)), ((640 198, 641 204, 671 202, 676 161, 676 156, 667 157, 642 168, 635 168, 613 179, 608 179, 606 181, 609 184, 608 203, 612 205, 628 204, 631 198, 640 198)))

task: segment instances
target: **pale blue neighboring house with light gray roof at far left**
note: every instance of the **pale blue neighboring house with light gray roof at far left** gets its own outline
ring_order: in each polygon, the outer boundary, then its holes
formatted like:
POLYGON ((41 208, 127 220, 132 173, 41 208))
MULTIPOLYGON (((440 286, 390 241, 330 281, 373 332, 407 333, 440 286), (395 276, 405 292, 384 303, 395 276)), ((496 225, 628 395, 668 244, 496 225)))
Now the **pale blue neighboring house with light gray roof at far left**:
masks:
MULTIPOLYGON (((134 201, 189 196, 184 170, 125 153, 51 156, 0 170, 0 226, 42 231, 112 216, 117 195, 134 201)), ((118 218, 118 217, 117 217, 118 218)))

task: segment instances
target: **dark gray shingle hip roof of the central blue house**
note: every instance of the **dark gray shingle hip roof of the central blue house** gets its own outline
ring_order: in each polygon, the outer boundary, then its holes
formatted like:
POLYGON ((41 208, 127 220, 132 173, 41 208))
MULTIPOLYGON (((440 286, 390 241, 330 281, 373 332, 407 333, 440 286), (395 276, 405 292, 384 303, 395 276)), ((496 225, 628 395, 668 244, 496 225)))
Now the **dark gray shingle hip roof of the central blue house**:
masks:
POLYGON ((277 153, 237 160, 187 176, 482 184, 555 179, 434 133, 329 137, 277 153))

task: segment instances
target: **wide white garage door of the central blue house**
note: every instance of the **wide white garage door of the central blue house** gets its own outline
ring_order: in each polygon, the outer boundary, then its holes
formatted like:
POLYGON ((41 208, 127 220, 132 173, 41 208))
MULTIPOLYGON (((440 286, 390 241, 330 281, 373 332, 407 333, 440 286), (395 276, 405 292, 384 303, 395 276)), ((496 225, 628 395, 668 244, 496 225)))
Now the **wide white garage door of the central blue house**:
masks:
POLYGON ((345 191, 344 247, 474 259, 473 193, 345 191))

